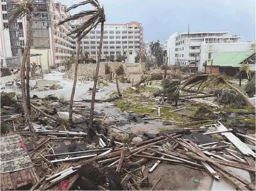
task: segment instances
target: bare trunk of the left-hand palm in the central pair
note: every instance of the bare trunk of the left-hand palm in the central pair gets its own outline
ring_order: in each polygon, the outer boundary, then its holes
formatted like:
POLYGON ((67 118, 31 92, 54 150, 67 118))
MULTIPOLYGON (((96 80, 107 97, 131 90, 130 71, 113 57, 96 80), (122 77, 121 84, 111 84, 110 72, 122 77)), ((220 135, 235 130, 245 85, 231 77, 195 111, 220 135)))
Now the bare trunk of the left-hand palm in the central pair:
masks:
POLYGON ((75 85, 77 84, 77 68, 79 63, 79 54, 80 54, 80 46, 81 46, 81 39, 77 39, 77 60, 75 62, 75 74, 74 74, 74 83, 72 88, 72 93, 70 96, 70 103, 69 103, 69 121, 72 121, 73 116, 73 100, 75 95, 75 85))

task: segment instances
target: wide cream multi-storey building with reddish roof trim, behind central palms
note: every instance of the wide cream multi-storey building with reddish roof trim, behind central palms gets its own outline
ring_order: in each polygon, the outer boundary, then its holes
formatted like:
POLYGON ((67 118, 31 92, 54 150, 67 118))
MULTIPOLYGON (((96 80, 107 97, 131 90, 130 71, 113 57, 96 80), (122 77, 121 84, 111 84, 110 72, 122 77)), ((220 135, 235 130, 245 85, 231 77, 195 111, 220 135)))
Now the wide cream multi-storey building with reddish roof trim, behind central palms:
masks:
MULTIPOLYGON (((75 25, 83 23, 88 18, 82 18, 81 21, 72 23, 75 25)), ((82 49, 89 53, 89 58, 97 61, 99 40, 101 37, 101 24, 96 29, 90 31, 82 39, 82 49)), ((135 62, 135 56, 138 52, 143 51, 143 27, 141 23, 131 21, 126 24, 104 24, 103 47, 101 60, 106 56, 117 54, 126 55, 128 63, 135 62)))

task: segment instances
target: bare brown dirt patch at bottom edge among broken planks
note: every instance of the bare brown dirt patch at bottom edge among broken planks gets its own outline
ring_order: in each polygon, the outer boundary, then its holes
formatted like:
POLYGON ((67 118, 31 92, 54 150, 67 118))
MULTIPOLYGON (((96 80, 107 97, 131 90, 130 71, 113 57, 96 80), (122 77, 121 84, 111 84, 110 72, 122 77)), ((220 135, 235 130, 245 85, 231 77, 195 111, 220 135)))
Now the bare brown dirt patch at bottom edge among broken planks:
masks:
POLYGON ((167 162, 161 162, 160 165, 148 173, 149 168, 144 172, 152 182, 152 185, 162 177, 154 190, 210 190, 212 178, 208 172, 196 170, 181 165, 171 165, 167 162), (147 171, 146 171, 147 170, 147 171), (193 180, 198 178, 199 183, 193 180))

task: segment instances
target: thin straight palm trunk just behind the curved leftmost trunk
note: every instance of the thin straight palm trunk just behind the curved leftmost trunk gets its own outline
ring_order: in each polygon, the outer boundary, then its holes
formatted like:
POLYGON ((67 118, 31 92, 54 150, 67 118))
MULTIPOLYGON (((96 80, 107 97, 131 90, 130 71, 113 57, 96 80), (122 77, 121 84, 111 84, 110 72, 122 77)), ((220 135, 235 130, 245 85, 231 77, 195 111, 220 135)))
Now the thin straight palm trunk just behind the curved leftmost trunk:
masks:
MULTIPOLYGON (((31 36, 31 27, 32 27, 32 22, 31 20, 28 21, 28 25, 29 25, 29 28, 27 28, 27 33, 30 33, 30 36, 31 36)), ((28 49, 30 50, 30 47, 31 47, 31 40, 29 41, 29 44, 28 44, 28 49)), ((31 113, 31 105, 30 105, 30 51, 29 51, 29 54, 28 56, 26 56, 26 100, 28 102, 28 111, 29 113, 31 113)))

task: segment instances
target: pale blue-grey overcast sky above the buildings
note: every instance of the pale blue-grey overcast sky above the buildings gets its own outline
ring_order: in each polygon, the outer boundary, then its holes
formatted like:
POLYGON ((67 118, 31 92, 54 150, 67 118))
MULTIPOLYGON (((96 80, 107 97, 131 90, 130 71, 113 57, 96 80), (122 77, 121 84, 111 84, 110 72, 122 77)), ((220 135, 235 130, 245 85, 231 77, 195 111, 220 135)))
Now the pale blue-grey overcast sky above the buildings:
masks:
MULTIPOLYGON (((80 0, 60 0, 70 6, 80 0)), ((106 23, 138 21, 144 40, 164 42, 171 34, 230 31, 243 40, 255 39, 255 0, 99 0, 106 23)), ((71 14, 90 9, 82 6, 71 14)))

